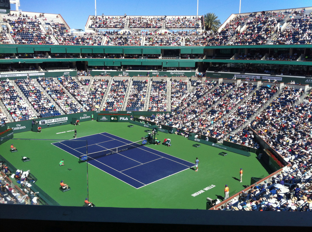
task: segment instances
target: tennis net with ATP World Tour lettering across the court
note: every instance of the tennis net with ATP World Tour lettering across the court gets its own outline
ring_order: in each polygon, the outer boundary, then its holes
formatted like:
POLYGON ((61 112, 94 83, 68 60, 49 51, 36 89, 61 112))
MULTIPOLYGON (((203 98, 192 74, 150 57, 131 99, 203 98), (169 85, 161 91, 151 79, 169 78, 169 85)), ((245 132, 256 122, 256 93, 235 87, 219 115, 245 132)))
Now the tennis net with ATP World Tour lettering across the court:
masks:
POLYGON ((88 161, 96 160, 96 159, 99 159, 99 158, 104 157, 106 155, 112 155, 115 153, 121 153, 123 151, 128 151, 130 149, 138 148, 138 147, 144 146, 146 144, 147 144, 147 140, 142 139, 142 140, 139 140, 137 142, 125 144, 125 145, 114 147, 111 149, 106 149, 104 151, 94 152, 94 153, 88 154, 88 161))

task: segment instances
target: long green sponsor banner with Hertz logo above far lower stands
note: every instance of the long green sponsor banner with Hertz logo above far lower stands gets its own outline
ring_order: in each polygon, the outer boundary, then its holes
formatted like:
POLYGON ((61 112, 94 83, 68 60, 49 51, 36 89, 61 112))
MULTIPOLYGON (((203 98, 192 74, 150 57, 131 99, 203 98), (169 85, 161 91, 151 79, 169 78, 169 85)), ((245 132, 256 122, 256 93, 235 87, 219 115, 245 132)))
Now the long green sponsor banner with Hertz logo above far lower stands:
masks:
POLYGON ((192 77, 195 76, 195 72, 186 72, 186 71, 168 71, 168 72, 157 72, 157 71, 115 71, 115 70, 96 70, 96 71, 90 71, 91 76, 119 76, 122 75, 124 77, 136 77, 136 76, 142 76, 146 77, 149 75, 149 77, 180 77, 180 76, 187 76, 192 77), (149 74, 148 74, 149 73, 149 74))

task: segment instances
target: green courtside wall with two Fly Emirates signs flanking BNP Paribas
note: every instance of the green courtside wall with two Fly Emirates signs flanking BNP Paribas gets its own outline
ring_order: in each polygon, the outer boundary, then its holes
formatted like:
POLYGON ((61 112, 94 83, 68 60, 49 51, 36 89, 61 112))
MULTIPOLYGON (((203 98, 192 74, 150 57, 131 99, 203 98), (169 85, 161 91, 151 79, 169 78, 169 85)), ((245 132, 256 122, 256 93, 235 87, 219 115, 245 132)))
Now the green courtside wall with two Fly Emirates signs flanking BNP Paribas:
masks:
MULTIPOLYGON (((79 119, 80 122, 91 120, 91 115, 93 111, 76 113, 76 114, 66 114, 66 115, 58 115, 54 117, 46 117, 46 118, 36 118, 35 123, 41 126, 42 129, 48 127, 55 127, 70 124, 72 118, 79 119)), ((32 120, 25 120, 20 122, 7 123, 7 128, 12 128, 14 133, 31 131, 32 130, 32 120)))

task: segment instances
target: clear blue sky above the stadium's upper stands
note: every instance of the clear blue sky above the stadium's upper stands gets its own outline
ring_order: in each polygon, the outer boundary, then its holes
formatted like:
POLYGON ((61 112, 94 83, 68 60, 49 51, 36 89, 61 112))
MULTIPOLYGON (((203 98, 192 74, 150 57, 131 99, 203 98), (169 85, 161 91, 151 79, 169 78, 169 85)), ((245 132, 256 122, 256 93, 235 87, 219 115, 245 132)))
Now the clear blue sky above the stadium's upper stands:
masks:
MULTIPOLYGON (((20 0, 22 11, 61 14, 71 29, 83 29, 95 14, 95 0, 20 0)), ((241 13, 277 9, 302 9, 311 0, 241 0, 241 13)), ((11 4, 11 10, 15 5, 11 4)), ((97 0, 97 15, 196 15, 197 0, 97 0)), ((213 12, 223 23, 239 12, 239 0, 198 0, 198 15, 213 12)))

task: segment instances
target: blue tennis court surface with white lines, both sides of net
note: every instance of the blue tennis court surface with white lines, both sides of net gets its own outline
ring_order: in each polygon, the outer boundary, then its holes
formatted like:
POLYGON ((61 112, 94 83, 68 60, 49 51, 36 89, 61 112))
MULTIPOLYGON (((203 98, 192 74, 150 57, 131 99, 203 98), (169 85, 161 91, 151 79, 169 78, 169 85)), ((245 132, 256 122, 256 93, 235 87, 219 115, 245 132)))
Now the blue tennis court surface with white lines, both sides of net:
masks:
POLYGON ((94 158, 89 159, 89 164, 134 188, 141 188, 194 166, 191 162, 148 147, 151 145, 102 157, 99 155, 99 152, 130 143, 129 140, 103 132, 52 144, 76 157, 85 155, 88 150, 88 156, 94 158), (81 140, 86 140, 88 146, 81 140))

